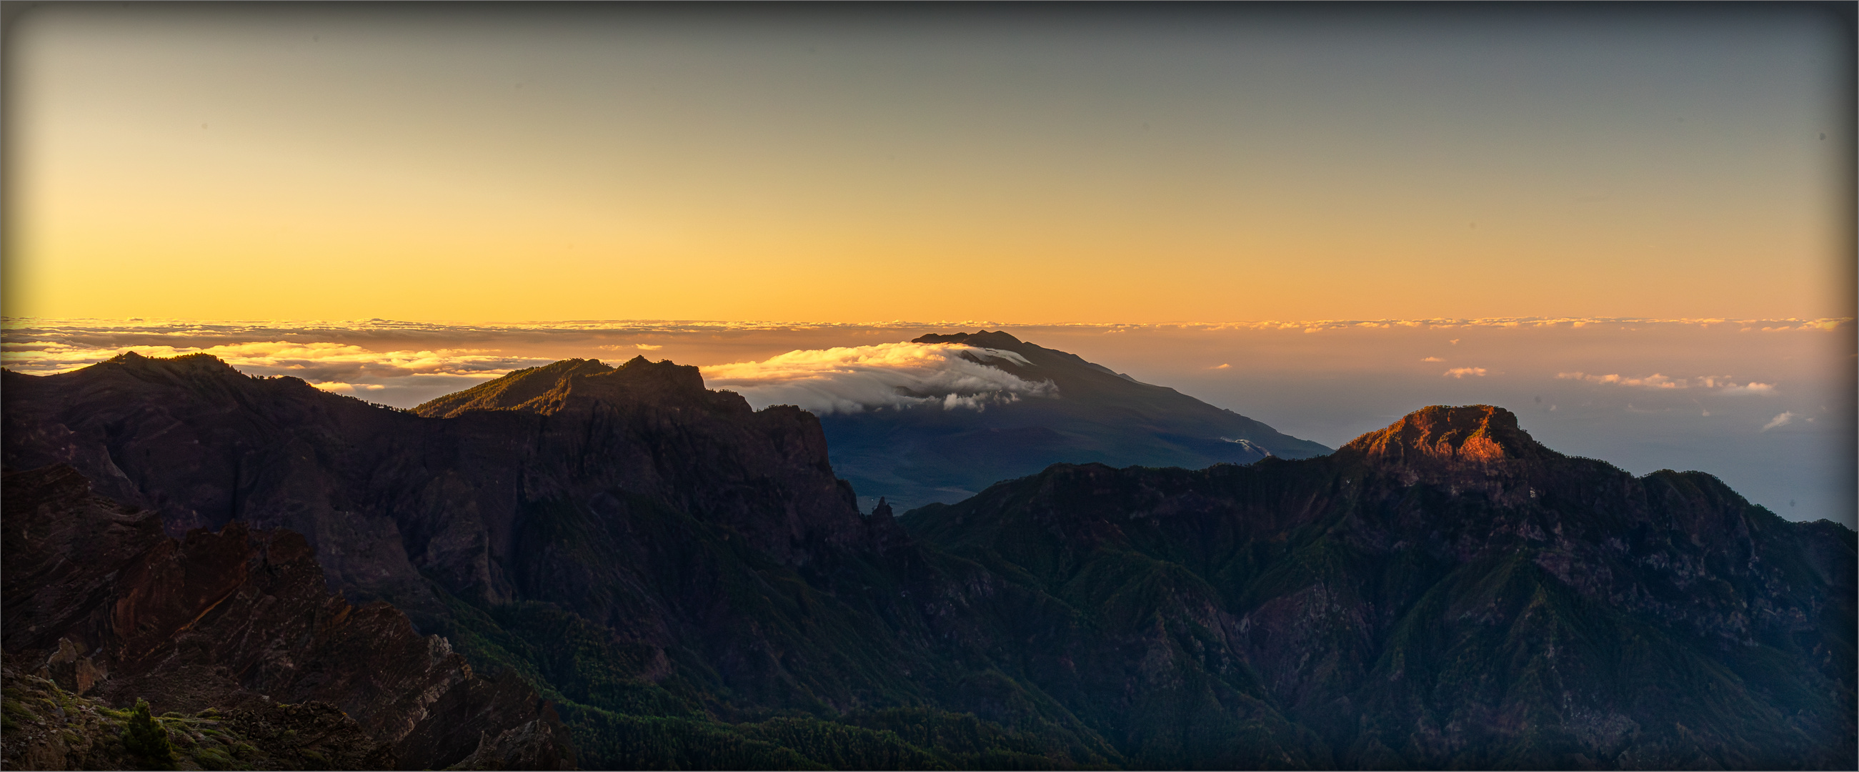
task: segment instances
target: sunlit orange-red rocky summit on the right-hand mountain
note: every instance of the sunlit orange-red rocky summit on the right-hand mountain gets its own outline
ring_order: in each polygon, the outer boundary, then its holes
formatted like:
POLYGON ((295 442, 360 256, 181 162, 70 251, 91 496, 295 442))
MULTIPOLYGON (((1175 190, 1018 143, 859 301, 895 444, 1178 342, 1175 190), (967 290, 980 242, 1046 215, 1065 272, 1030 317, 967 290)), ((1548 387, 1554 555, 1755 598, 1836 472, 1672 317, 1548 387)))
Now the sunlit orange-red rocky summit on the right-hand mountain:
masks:
POLYGON ((1355 437, 1338 454, 1359 454, 1376 463, 1439 465, 1534 459, 1554 456, 1554 450, 1532 439, 1517 426, 1517 415, 1504 407, 1431 406, 1355 437))

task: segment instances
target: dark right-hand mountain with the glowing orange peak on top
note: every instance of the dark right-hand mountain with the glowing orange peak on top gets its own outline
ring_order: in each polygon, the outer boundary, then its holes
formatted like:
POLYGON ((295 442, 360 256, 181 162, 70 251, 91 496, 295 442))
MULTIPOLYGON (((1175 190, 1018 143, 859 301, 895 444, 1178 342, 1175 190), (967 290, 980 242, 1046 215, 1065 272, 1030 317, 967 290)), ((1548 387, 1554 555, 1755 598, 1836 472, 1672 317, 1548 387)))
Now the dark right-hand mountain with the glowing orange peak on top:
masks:
POLYGON ((905 523, 1054 599, 1028 677, 1138 757, 1249 731, 1298 759, 1283 720, 1338 766, 1855 761, 1853 532, 1565 458, 1504 409, 1305 461, 1056 465, 905 523))

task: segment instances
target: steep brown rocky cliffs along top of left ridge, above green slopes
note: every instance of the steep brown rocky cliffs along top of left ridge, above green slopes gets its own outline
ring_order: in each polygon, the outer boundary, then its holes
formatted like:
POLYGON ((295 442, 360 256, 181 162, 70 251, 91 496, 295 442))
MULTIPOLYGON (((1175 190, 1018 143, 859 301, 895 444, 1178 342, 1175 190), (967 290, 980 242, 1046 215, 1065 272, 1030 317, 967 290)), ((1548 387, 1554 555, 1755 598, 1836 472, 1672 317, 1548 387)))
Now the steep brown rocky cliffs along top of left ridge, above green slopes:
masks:
POLYGON ((446 614, 426 577, 485 603, 556 588, 519 554, 545 549, 539 530, 569 510, 645 500, 734 528, 788 566, 872 538, 811 415, 757 413, 688 366, 567 365, 422 409, 444 420, 204 355, 9 372, 4 461, 69 463, 100 495, 160 510, 171 536, 234 519, 296 530, 333 588, 415 619, 446 614))

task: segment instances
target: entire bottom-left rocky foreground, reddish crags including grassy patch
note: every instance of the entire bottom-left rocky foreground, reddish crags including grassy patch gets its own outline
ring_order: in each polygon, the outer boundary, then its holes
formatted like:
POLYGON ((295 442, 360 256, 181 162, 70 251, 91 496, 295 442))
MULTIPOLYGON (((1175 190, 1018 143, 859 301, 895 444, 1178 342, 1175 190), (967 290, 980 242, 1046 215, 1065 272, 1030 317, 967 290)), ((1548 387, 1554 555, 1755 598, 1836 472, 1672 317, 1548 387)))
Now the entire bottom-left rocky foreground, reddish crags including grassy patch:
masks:
POLYGON ((67 465, 4 484, 11 768, 147 766, 110 709, 138 699, 201 768, 574 766, 530 686, 476 677, 387 603, 331 595, 299 534, 171 539, 67 465))

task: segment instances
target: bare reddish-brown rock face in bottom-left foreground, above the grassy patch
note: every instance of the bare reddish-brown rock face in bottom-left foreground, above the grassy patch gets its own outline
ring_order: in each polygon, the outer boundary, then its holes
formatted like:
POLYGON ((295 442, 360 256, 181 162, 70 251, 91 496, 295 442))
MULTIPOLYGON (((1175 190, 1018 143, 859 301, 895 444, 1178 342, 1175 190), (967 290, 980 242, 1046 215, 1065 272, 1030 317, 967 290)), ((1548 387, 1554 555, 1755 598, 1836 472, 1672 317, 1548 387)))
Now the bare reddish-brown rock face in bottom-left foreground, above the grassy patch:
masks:
POLYGON ((543 768, 573 766, 565 729, 534 692, 481 714, 483 699, 457 698, 480 688, 461 655, 385 603, 331 595, 294 532, 234 521, 171 539, 154 512, 91 495, 63 465, 7 474, 4 506, 4 647, 74 696, 147 699, 154 712, 327 703, 403 768, 474 748, 418 742, 428 727, 494 737, 535 724, 543 768))

